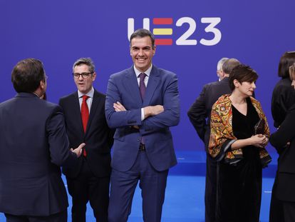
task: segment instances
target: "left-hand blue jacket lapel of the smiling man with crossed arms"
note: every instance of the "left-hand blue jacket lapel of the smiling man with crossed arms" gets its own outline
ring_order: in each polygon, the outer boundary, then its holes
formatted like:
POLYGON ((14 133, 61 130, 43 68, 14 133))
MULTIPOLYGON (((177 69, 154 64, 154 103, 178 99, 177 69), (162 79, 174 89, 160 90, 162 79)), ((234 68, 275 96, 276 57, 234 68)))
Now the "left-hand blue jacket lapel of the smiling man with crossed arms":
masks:
POLYGON ((125 75, 125 89, 130 92, 130 96, 133 96, 134 101, 138 104, 142 104, 143 101, 140 97, 140 90, 138 86, 138 80, 136 79, 135 71, 133 66, 127 70, 127 74, 125 75))

